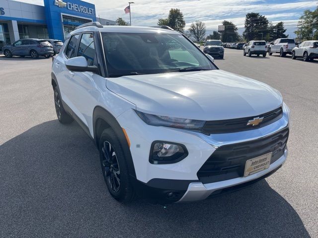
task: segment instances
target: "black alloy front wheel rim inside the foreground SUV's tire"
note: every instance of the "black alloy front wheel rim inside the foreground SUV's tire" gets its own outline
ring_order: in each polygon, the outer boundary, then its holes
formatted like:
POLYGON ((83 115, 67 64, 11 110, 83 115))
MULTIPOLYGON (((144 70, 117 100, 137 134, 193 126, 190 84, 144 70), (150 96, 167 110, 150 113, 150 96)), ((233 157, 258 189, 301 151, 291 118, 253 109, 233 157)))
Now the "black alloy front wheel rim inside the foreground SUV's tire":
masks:
POLYGON ((120 169, 116 151, 108 141, 104 141, 101 148, 101 167, 107 186, 113 191, 120 189, 120 169))

